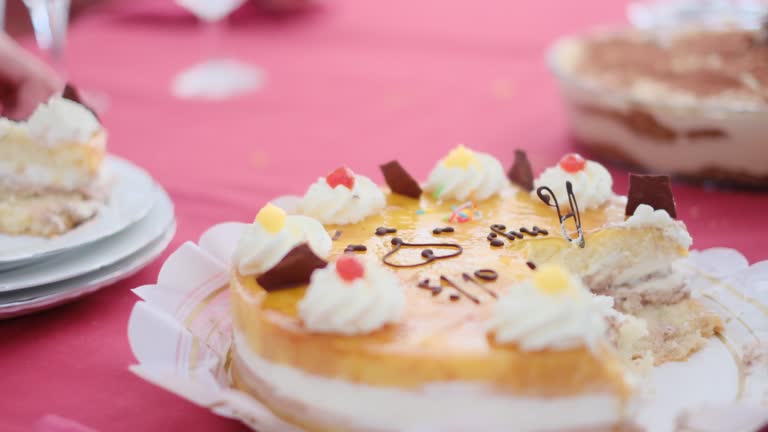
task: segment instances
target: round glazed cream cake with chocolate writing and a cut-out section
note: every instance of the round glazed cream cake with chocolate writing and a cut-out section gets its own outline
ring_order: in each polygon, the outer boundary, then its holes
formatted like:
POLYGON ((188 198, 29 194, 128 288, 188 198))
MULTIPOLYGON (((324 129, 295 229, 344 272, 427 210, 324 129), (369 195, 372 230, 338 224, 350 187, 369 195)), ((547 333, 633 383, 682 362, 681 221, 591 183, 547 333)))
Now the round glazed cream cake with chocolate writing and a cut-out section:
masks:
POLYGON ((523 156, 510 180, 458 147, 423 190, 344 167, 300 214, 265 206, 233 260, 235 386, 310 431, 631 427, 648 368, 721 328, 670 264, 690 238, 669 183, 620 196, 575 154, 534 181, 523 156))

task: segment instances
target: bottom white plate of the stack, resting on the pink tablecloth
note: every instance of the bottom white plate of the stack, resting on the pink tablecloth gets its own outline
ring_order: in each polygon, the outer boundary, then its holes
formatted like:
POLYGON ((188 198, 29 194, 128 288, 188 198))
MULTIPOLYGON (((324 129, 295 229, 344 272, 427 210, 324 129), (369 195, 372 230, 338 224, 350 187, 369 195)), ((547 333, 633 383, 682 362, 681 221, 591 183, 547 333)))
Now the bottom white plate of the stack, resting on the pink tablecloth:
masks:
POLYGON ((49 309, 133 276, 160 256, 175 233, 174 222, 160 239, 128 258, 93 273, 40 287, 0 293, 0 319, 49 309))

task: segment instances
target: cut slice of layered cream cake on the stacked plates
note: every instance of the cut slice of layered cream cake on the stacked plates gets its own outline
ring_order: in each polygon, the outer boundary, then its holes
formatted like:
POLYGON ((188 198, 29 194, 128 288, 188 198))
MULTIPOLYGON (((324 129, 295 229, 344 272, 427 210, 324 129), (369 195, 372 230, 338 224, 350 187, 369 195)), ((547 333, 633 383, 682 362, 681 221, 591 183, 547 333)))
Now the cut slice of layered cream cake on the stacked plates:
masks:
POLYGON ((93 218, 103 201, 105 152, 96 116, 63 96, 26 121, 1 119, 0 233, 50 237, 93 218))

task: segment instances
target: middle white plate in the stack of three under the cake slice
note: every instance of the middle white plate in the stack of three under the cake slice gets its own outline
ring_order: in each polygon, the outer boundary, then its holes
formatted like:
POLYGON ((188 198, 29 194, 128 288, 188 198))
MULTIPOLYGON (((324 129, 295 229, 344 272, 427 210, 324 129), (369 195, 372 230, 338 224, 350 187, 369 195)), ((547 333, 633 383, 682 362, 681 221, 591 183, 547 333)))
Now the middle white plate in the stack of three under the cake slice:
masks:
POLYGON ((112 237, 0 274, 0 292, 36 287, 100 270, 160 238, 173 223, 173 203, 165 191, 138 223, 112 237))

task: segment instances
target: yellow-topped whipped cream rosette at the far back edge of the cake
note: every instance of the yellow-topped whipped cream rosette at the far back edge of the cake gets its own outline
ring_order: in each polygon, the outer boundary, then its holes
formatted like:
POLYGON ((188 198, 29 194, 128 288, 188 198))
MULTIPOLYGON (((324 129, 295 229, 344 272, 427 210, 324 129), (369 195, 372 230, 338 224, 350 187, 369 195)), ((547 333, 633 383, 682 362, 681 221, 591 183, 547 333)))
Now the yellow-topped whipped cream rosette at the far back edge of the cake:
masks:
POLYGON ((451 150, 429 174, 426 190, 436 199, 482 201, 509 185, 501 162, 495 157, 467 149, 451 150))

